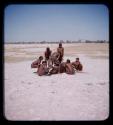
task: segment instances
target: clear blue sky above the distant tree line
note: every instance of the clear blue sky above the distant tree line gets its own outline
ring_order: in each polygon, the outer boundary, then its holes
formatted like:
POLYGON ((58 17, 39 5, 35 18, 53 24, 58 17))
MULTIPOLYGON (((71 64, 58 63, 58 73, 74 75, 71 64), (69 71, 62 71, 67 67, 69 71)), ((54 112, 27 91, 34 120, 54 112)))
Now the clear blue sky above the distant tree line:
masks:
POLYGON ((4 41, 109 40, 103 4, 15 4, 4 10, 4 41))

